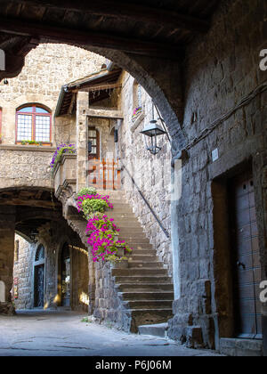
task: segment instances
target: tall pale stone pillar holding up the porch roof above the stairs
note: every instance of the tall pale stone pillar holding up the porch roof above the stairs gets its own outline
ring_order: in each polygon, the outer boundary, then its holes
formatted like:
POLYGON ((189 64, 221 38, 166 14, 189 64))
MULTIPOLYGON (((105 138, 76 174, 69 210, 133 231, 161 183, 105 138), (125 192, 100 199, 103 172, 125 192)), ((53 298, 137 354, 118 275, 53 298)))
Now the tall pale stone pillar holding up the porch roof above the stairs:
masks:
POLYGON ((88 93, 77 93, 77 192, 86 187, 88 170, 88 93))

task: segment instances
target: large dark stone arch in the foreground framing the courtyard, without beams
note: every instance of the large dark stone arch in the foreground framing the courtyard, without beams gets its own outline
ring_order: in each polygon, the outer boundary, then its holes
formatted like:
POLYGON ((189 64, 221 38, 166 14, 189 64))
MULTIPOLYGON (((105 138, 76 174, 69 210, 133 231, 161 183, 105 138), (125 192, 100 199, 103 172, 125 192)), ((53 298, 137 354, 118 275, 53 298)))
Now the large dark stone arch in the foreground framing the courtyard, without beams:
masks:
MULTIPOLYGON (((47 43, 45 41, 44 43, 47 43)), ((183 93, 182 93, 182 73, 181 64, 177 60, 165 58, 136 55, 133 53, 123 53, 119 50, 111 50, 101 47, 77 44, 75 33, 73 41, 66 43, 59 37, 57 42, 52 44, 65 43, 67 45, 84 48, 92 53, 100 54, 109 61, 114 61, 117 66, 128 71, 150 94, 154 103, 158 106, 162 117, 166 121, 169 134, 173 137, 173 153, 181 150, 186 142, 186 134, 182 129, 183 120, 183 93), (172 82, 177 84, 172 84, 172 82)), ((33 47, 29 47, 32 49, 33 47)), ((28 52, 29 52, 28 51, 28 52)), ((18 61, 20 70, 24 65, 24 58, 18 61)), ((13 69, 13 73, 5 73, 6 77, 14 77, 20 74, 20 70, 13 69)), ((0 74, 2 78, 3 74, 0 74)))

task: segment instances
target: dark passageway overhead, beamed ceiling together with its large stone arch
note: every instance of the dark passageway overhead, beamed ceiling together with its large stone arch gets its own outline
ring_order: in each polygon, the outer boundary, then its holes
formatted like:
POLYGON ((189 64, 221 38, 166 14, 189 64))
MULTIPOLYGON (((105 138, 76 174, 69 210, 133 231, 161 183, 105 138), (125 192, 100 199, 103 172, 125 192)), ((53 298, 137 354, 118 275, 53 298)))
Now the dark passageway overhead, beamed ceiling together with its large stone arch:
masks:
MULTIPOLYGON (((23 66, 24 56, 39 43, 68 43, 84 47, 106 56, 135 77, 153 97, 166 119, 173 136, 174 151, 184 145, 180 61, 188 43, 210 28, 215 1, 205 1, 197 7, 176 1, 167 2, 163 7, 149 0, 144 4, 120 3, 119 12, 116 11, 116 1, 112 4, 75 5, 60 1, 41 4, 23 1, 21 4, 23 12, 19 1, 0 6, 0 33, 4 38, 10 38, 10 44, 5 46, 6 70, 0 72, 0 78, 17 75, 23 66), (24 17, 28 11, 31 20, 24 17), (7 13, 12 21, 8 20, 7 13), (72 17, 74 14, 77 16, 72 17), (37 24, 40 20, 42 26, 37 24), (136 21, 140 28, 136 27, 136 21), (16 58, 11 55, 14 51, 12 33, 20 39, 16 58), (166 77, 172 77, 171 81, 175 84, 170 85, 166 77)), ((15 45, 18 45, 17 40, 15 45)))

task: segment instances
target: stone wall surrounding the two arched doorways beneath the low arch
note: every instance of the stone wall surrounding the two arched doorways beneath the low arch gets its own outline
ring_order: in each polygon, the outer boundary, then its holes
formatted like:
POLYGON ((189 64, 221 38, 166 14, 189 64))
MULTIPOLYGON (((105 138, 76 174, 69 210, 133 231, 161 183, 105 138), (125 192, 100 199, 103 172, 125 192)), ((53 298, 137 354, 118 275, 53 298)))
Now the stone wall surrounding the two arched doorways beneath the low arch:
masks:
MULTIPOLYGON (((44 245, 44 308, 61 306, 61 285, 59 284, 61 248, 68 243, 71 258, 71 308, 88 310, 88 259, 85 253, 75 248, 84 248, 77 235, 64 221, 57 224, 45 224, 39 229, 36 243, 28 243, 20 236, 19 258, 14 262, 13 277, 17 279, 18 298, 14 299, 16 309, 34 308, 35 294, 35 257, 40 244, 44 245), (53 236, 51 236, 53 232, 53 236)), ((16 257, 16 256, 15 256, 16 257)), ((15 285, 13 286, 15 287, 15 285)))

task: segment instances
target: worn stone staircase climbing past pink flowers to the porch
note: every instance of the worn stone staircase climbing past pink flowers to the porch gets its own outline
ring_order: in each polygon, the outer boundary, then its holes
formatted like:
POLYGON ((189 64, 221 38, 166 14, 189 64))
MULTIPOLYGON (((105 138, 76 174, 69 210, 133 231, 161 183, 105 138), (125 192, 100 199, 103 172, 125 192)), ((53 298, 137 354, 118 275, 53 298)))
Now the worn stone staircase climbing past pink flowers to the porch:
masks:
POLYGON ((137 332, 141 325, 163 323, 172 318, 174 285, 122 191, 109 192, 109 196, 114 209, 107 215, 114 218, 120 229, 119 239, 133 248, 129 267, 113 269, 112 275, 118 296, 132 314, 131 330, 137 332))

